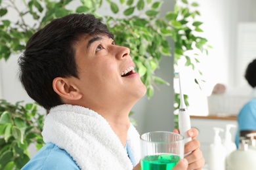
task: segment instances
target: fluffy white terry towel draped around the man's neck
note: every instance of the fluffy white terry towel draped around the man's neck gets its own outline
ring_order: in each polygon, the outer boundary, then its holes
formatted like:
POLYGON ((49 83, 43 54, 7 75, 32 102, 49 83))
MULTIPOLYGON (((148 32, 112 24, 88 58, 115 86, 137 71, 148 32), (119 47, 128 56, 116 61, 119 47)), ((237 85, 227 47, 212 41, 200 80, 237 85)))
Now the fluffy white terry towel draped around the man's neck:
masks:
POLYGON ((127 134, 129 159, 108 122, 85 107, 54 107, 45 118, 42 135, 45 143, 66 150, 80 169, 133 169, 140 160, 139 133, 132 124, 127 134))

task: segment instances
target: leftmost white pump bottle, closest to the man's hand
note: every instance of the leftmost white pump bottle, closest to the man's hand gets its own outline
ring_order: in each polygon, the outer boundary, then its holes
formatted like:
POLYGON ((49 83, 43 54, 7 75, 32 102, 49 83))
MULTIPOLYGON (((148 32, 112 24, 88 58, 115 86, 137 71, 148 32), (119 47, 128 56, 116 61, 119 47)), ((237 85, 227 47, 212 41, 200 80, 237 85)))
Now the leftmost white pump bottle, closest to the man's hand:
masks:
POLYGON ((209 148, 209 170, 224 170, 226 159, 226 148, 221 143, 220 127, 213 127, 215 131, 214 141, 209 148))

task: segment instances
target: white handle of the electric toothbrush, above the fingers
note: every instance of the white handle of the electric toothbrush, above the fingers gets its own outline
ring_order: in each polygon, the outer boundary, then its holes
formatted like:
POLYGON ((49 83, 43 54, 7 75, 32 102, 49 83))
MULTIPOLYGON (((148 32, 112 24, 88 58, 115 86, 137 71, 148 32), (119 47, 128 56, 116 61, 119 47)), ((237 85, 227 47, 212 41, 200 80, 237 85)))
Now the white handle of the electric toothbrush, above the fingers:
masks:
POLYGON ((190 116, 186 111, 179 112, 179 131, 184 137, 184 143, 191 141, 191 137, 188 137, 188 130, 191 129, 190 116))

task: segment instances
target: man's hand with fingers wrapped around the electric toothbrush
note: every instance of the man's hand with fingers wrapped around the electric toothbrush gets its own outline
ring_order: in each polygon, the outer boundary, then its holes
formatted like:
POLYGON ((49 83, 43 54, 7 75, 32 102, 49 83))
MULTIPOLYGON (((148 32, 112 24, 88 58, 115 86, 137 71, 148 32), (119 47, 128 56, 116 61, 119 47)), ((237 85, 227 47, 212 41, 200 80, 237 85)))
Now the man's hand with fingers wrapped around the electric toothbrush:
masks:
MULTIPOLYGON (((179 133, 177 129, 175 129, 174 132, 179 133)), ((188 136, 192 137, 192 140, 184 146, 184 154, 191 152, 191 154, 185 156, 186 160, 188 160, 188 169, 202 169, 205 160, 203 158, 203 153, 200 150, 200 142, 196 140, 198 129, 191 128, 188 130, 188 136)))

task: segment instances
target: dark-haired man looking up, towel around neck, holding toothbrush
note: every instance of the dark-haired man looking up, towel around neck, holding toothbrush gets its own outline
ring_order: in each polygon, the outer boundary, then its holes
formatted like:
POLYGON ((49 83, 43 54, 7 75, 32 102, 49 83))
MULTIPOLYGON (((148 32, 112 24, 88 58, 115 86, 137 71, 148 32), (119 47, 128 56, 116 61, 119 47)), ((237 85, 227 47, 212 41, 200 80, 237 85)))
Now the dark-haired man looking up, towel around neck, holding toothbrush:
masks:
MULTIPOLYGON (((45 118, 45 146, 23 169, 140 169, 139 134, 129 122, 146 93, 129 48, 93 15, 70 14, 39 30, 19 59, 20 80, 45 118)), ((200 169, 196 129, 175 169, 200 169)))

